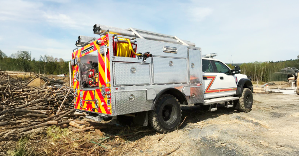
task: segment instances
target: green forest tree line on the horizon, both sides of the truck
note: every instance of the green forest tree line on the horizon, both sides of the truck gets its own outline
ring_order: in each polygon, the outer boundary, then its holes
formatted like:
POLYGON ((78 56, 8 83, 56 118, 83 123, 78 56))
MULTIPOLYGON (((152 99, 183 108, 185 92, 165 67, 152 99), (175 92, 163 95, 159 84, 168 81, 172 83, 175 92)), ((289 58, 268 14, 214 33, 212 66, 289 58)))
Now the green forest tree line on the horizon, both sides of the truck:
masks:
MULTIPOLYGON (((233 69, 232 65, 228 64, 228 66, 233 69)), ((264 82, 273 81, 273 74, 287 67, 299 69, 299 59, 278 62, 253 62, 240 65, 241 74, 251 76, 253 81, 258 78, 259 81, 264 82)), ((2 71, 23 71, 51 75, 68 74, 69 71, 68 62, 61 58, 44 55, 40 56, 39 60, 31 59, 28 51, 17 51, 7 57, 0 50, 0 68, 2 71)))

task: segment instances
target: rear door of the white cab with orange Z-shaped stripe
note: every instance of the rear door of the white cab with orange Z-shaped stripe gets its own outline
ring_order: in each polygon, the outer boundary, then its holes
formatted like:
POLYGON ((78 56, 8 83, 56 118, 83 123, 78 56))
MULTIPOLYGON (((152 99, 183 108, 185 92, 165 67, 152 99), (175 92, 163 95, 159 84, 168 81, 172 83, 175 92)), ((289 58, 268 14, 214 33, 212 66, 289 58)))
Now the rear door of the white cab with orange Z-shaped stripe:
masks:
POLYGON ((216 81, 217 74, 210 60, 202 59, 202 81, 204 87, 204 99, 219 96, 219 81, 216 81))

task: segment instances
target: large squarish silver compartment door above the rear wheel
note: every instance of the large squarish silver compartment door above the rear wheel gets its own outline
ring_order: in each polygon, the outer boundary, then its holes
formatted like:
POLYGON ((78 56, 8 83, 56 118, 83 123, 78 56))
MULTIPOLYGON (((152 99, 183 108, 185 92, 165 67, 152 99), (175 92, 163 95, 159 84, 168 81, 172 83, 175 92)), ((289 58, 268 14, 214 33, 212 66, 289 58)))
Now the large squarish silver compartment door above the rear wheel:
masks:
POLYGON ((187 59, 152 57, 153 83, 187 83, 187 59))

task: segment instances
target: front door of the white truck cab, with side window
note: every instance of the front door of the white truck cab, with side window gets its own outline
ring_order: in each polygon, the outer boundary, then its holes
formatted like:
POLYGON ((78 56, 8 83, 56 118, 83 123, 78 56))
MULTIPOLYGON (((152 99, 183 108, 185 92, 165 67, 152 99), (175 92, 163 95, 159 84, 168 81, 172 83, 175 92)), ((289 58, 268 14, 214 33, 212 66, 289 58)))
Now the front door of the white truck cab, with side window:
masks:
POLYGON ((211 61, 213 68, 216 69, 217 78, 215 81, 218 84, 219 93, 218 96, 230 96, 236 94, 237 80, 236 76, 233 76, 231 70, 220 61, 211 61))

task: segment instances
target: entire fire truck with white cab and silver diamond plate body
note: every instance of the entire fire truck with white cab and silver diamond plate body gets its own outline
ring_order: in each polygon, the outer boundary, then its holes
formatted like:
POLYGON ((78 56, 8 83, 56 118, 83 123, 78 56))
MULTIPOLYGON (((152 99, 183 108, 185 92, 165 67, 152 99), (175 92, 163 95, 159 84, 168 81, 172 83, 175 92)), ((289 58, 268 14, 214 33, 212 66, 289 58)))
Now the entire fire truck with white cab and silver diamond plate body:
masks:
POLYGON ((177 36, 96 24, 79 36, 72 53, 74 107, 96 121, 150 125, 171 132, 181 122, 181 105, 216 111, 219 103, 252 109, 252 82, 216 54, 177 36))

